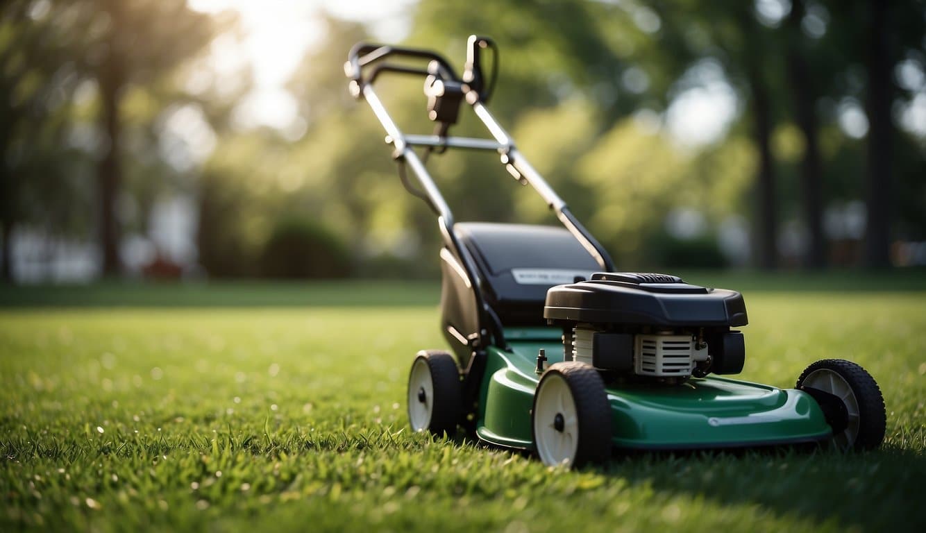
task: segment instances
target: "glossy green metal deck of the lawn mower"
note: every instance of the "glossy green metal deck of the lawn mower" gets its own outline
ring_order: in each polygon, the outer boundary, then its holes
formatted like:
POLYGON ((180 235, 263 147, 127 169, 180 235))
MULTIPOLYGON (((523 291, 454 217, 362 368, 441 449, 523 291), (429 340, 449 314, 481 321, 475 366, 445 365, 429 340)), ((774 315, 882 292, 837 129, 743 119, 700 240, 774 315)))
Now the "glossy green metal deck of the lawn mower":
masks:
MULTIPOLYGON (((562 360, 556 328, 507 330, 509 350, 488 350, 476 435, 532 450, 531 408, 540 349, 562 360)), ((609 383, 611 444, 625 450, 694 450, 817 442, 832 437, 820 406, 802 390, 708 376, 681 385, 609 383)))

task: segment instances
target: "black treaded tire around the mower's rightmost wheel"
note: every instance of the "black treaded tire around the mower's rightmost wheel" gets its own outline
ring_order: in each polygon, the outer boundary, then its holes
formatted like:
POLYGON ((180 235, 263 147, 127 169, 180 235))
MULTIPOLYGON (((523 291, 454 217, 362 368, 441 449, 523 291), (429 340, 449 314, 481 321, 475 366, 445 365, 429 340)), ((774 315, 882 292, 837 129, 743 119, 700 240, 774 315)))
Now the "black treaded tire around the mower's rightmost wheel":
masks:
POLYGON ((847 414, 844 415, 845 429, 833 435, 837 445, 853 450, 872 450, 881 445, 887 427, 887 415, 881 389, 868 371, 844 359, 821 359, 807 366, 800 378, 797 378, 797 389, 803 390, 805 387, 845 396, 841 398, 847 414), (823 377, 827 379, 821 381, 823 377), (829 387, 836 390, 827 390, 827 382, 832 383, 829 387), (843 394, 839 393, 839 388, 845 389, 845 386, 850 390, 850 394, 845 394, 845 391, 843 394))

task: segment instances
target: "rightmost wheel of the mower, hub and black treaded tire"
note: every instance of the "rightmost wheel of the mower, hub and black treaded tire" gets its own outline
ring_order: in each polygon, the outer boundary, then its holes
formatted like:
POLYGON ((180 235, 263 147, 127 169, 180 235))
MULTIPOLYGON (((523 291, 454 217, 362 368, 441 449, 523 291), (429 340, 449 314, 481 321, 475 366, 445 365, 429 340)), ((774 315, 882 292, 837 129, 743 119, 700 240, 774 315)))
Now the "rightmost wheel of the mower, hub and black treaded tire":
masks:
POLYGON ((801 373, 797 389, 820 403, 839 449, 871 450, 884 440, 884 398, 878 383, 861 366, 843 359, 822 359, 801 373))

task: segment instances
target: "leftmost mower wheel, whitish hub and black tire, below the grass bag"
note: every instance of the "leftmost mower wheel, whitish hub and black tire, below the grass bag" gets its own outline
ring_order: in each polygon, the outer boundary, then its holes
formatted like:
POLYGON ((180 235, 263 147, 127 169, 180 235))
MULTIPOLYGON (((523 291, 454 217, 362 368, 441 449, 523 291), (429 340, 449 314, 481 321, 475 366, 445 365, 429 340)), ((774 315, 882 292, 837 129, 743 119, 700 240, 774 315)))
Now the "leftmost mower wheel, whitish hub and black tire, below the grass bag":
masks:
POLYGON ((461 394, 454 356, 442 350, 421 350, 408 374, 407 413, 412 430, 427 430, 435 437, 455 435, 461 394))

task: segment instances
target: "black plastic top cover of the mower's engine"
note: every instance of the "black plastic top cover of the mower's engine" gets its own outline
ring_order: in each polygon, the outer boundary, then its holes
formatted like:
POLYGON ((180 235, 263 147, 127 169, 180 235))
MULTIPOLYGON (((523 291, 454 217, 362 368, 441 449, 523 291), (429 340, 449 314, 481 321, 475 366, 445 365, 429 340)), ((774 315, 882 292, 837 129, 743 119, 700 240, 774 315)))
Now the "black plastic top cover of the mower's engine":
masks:
POLYGON ((597 277, 547 291, 544 318, 669 328, 738 327, 748 321, 743 295, 736 291, 597 277))

